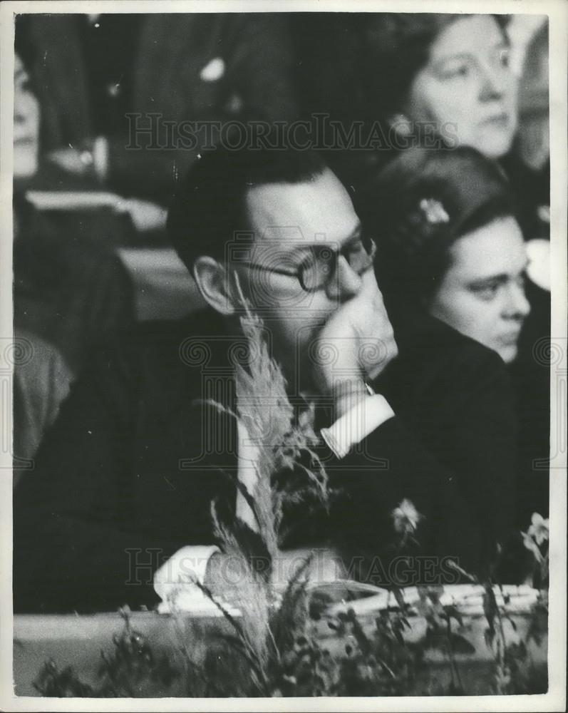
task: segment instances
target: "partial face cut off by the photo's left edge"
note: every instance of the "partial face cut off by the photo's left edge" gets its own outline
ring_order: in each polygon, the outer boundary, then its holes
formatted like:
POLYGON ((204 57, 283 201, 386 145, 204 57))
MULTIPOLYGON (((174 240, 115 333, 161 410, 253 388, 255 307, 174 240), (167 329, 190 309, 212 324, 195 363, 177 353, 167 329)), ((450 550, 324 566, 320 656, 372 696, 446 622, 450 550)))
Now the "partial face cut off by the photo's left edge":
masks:
POLYGON ((19 56, 14 58, 14 178, 31 178, 38 168, 39 103, 19 56))

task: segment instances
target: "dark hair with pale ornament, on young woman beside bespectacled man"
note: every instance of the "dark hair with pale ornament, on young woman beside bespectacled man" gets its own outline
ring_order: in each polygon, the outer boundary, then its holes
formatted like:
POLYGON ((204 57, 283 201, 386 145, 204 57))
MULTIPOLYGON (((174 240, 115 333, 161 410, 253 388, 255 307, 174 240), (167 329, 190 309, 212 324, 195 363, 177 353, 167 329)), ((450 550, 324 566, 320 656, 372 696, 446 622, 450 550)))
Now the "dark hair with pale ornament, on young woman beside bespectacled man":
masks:
POLYGON ((425 309, 459 237, 515 215, 497 163, 473 148, 410 148, 376 173, 355 198, 375 238, 376 273, 387 309, 425 309))

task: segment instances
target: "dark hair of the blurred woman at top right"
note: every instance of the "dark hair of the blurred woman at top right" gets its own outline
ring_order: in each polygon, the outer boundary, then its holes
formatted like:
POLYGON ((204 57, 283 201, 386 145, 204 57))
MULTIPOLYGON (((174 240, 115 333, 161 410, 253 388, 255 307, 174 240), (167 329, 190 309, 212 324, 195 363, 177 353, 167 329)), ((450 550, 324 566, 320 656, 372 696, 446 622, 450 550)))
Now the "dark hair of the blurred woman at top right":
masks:
MULTIPOLYGON (((365 14, 366 15, 366 14, 365 14)), ((376 13, 361 26, 362 93, 371 111, 386 119, 402 110, 410 85, 428 62, 433 41, 449 24, 468 15, 376 13)), ((507 15, 493 15, 508 41, 507 15)))

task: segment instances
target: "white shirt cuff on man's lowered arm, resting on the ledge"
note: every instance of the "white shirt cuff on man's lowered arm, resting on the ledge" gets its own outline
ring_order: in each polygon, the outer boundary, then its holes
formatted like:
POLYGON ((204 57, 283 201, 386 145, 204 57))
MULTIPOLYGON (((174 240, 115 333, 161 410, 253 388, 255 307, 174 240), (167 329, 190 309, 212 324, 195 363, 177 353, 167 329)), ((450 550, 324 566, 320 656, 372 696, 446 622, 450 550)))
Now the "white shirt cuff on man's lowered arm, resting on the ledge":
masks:
POLYGON ((216 552, 220 552, 220 549, 215 545, 182 547, 155 571, 154 590, 162 599, 159 611, 202 607, 207 596, 195 582, 203 584, 207 563, 216 552))

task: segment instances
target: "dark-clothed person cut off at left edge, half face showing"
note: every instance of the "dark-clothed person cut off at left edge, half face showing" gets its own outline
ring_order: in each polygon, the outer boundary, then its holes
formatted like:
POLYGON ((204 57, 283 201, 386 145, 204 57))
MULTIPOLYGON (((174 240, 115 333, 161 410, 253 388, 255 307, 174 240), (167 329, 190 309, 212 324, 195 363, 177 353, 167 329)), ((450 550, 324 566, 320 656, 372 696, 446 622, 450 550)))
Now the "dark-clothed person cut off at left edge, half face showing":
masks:
POLYGON ((51 344, 78 374, 105 334, 134 321, 132 285, 104 242, 67 235, 26 199, 36 173, 40 108, 21 58, 14 64, 14 325, 51 344))

